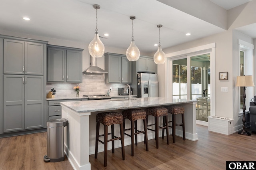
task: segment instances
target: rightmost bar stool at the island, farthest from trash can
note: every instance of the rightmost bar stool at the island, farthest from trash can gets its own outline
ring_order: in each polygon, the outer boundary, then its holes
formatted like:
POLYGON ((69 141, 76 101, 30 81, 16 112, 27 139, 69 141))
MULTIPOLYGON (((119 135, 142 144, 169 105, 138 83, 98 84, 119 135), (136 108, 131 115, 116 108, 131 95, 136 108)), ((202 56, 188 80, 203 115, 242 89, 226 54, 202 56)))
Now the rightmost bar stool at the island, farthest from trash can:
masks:
MULTIPOLYGON (((168 121, 168 123, 172 122, 172 126, 168 126, 168 127, 172 128, 173 143, 175 143, 176 126, 182 126, 183 140, 186 140, 184 107, 182 107, 182 106, 166 106, 166 109, 168 109, 168 113, 172 114, 172 121, 168 121), (178 114, 181 114, 182 123, 176 123, 176 115, 178 115, 178 114)), ((166 121, 163 120, 163 123, 165 124, 166 121)), ((164 129, 162 131, 162 135, 164 135, 164 129)))

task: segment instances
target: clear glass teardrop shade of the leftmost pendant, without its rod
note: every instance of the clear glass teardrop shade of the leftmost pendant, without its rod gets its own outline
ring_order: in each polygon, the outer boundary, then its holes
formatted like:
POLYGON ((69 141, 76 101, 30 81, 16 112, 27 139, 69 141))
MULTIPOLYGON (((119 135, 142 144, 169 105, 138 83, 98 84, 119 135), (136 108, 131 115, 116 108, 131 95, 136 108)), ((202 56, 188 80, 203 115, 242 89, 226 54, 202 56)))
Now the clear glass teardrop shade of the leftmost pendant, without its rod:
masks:
POLYGON ((93 40, 89 44, 89 53, 92 57, 102 57, 105 51, 104 44, 100 41, 98 32, 95 32, 93 40))

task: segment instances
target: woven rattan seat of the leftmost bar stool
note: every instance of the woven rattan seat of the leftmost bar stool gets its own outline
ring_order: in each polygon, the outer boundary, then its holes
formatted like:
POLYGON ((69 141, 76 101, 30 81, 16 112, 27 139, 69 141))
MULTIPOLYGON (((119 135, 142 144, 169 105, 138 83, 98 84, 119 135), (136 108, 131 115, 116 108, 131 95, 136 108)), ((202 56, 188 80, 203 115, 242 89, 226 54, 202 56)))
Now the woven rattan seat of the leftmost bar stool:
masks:
POLYGON ((117 112, 98 113, 96 115, 96 122, 106 126, 121 124, 123 121, 123 115, 117 112))

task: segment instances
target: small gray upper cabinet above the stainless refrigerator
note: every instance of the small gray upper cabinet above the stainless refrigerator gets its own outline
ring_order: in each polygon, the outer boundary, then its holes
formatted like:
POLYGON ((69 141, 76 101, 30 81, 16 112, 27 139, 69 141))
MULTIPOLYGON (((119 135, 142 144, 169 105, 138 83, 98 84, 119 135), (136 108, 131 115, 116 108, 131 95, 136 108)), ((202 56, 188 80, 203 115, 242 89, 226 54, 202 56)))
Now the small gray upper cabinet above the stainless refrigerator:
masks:
POLYGON ((153 57, 140 56, 138 59, 138 72, 155 73, 156 68, 153 57))

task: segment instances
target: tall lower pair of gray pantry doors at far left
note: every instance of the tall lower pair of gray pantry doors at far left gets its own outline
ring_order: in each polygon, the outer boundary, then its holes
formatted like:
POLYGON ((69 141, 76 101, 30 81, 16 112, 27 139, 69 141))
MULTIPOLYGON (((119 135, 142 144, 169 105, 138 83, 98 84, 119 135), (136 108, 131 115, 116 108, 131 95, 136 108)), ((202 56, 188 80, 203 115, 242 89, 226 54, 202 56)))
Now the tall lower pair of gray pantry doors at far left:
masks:
POLYGON ((3 132, 44 127, 44 77, 4 75, 3 132))

